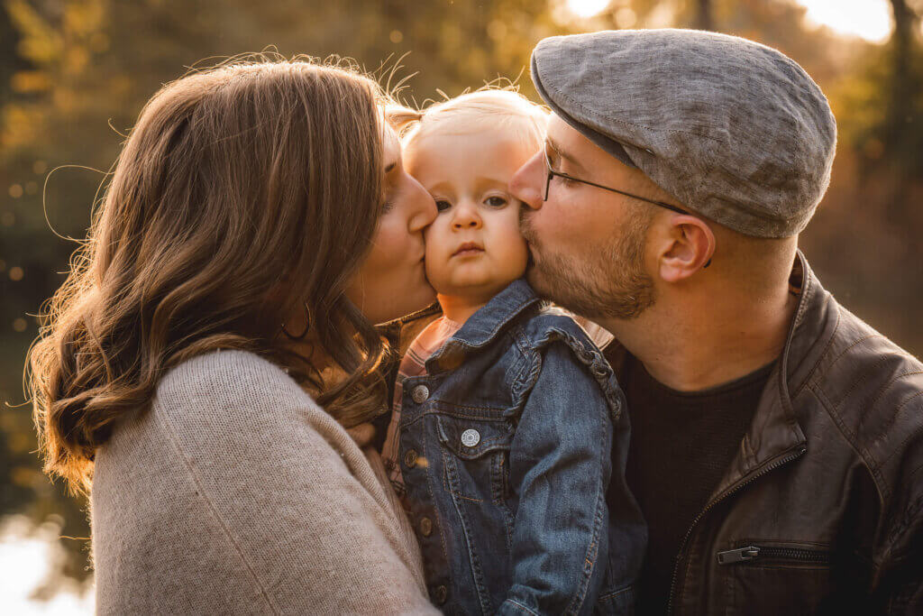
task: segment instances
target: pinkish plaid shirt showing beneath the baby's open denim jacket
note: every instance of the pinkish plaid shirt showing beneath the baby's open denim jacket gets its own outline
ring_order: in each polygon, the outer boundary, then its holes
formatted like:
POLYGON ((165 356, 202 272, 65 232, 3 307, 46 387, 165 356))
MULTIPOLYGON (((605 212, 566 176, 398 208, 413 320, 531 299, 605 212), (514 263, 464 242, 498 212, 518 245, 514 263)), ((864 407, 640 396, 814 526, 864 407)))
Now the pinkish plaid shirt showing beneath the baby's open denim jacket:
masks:
POLYGON ((381 459, 394 491, 403 500, 407 489, 401 477, 401 465, 398 462, 398 453, 401 449, 401 400, 403 397, 403 381, 408 377, 418 377, 426 374, 426 360, 449 340, 455 332, 462 329, 461 323, 456 323, 446 317, 440 317, 426 326, 426 329, 414 339, 407 349, 407 354, 401 359, 398 376, 394 383, 394 400, 391 421, 388 425, 388 434, 385 444, 381 448, 381 459))

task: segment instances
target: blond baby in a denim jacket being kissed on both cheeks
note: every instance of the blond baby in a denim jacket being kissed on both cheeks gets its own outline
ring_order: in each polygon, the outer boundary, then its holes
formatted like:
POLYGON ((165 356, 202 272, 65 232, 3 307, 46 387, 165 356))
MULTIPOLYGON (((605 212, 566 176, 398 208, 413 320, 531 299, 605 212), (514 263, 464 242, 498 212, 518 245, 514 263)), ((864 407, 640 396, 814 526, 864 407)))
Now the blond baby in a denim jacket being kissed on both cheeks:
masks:
POLYGON ((402 359, 383 458, 448 613, 629 613, 643 557, 624 395, 521 278, 509 180, 545 118, 513 91, 403 118, 407 169, 436 199, 426 275, 443 316, 402 359))

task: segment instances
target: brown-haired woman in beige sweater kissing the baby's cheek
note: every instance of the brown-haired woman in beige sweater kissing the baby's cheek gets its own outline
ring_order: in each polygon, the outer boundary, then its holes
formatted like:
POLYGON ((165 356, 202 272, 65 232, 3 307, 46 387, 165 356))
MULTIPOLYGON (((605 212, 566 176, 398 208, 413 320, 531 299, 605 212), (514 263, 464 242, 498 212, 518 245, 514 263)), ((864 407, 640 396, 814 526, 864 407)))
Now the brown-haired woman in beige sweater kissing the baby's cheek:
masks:
POLYGON ((435 204, 384 103, 261 61, 142 111, 30 357, 46 471, 90 492, 101 613, 433 610, 343 428, 380 408, 371 323, 434 299, 435 204))

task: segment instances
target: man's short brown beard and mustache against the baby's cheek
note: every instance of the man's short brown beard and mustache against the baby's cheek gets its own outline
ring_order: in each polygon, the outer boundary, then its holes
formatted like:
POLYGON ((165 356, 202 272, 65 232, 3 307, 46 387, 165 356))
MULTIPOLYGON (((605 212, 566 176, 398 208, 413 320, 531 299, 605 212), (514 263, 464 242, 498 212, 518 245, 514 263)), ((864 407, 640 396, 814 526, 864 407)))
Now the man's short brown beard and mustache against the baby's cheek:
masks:
POLYGON ((523 208, 520 228, 531 248, 526 277, 539 296, 589 319, 635 319, 653 306, 653 280, 643 269, 650 217, 636 216, 620 237, 601 249, 584 245, 576 256, 549 254, 535 236, 530 215, 523 208))

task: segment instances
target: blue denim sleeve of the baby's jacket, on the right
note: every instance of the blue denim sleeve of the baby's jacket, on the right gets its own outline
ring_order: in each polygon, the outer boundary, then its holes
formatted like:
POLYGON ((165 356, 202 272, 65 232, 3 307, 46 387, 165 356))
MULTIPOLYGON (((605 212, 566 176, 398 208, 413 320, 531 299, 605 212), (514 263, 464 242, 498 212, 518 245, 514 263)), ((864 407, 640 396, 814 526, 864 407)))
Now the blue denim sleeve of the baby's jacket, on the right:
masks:
POLYGON ((498 613, 591 613, 607 562, 609 406, 567 344, 546 346, 536 369, 509 452, 519 506, 498 613))

